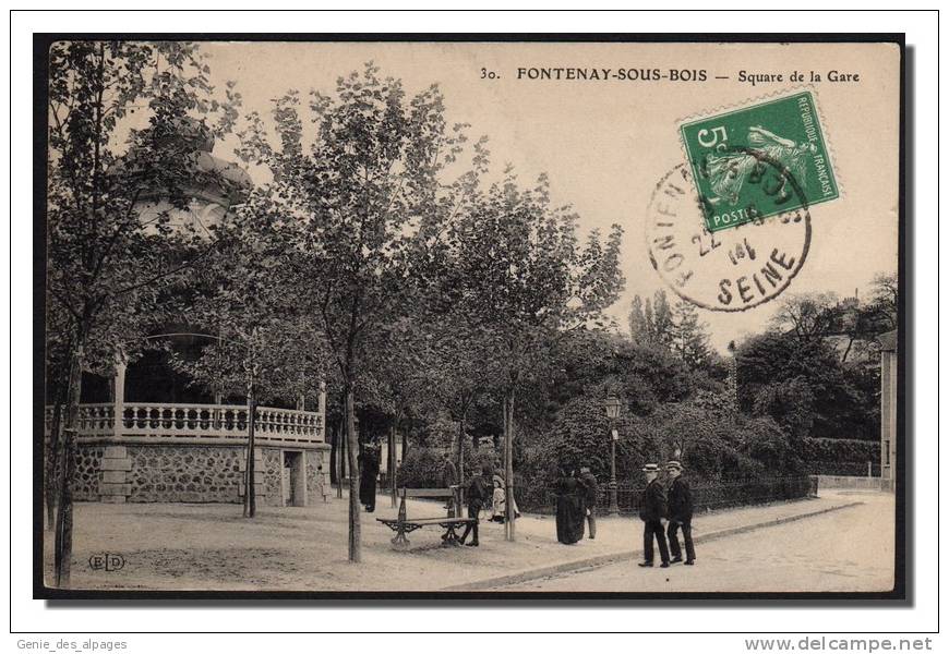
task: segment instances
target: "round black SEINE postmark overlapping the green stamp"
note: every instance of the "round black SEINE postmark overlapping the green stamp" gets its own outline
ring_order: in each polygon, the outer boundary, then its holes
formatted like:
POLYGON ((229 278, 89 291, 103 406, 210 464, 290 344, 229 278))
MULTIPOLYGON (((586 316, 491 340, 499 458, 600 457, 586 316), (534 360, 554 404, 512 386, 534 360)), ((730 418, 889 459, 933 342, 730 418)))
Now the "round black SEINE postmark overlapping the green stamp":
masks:
POLYGON ((781 161, 755 148, 729 149, 752 159, 745 184, 793 208, 762 217, 752 202, 716 216, 734 227, 710 231, 714 206, 696 191, 690 167, 681 164, 656 184, 646 238, 652 267, 677 295, 710 311, 741 312, 781 294, 801 270, 810 246, 810 214, 781 161))

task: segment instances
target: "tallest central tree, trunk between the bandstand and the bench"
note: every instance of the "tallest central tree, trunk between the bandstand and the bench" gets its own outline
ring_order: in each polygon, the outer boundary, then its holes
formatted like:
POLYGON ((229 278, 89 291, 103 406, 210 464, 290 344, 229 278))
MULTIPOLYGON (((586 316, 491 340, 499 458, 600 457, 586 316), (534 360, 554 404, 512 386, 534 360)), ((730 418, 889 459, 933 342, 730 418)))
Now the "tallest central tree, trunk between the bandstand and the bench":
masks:
POLYGON ((296 301, 324 334, 339 372, 353 473, 349 560, 359 562, 353 393, 373 335, 399 317, 415 287, 428 284, 437 255, 432 244, 464 187, 440 177, 461 152, 465 125, 446 124, 436 86, 407 100, 401 82, 381 78, 372 63, 339 77, 335 97, 311 94, 309 114, 317 128, 312 135, 299 94, 289 92, 274 104, 279 145, 268 143, 263 119, 252 114, 240 154, 273 175, 268 192, 283 203, 283 225, 304 255, 293 267, 296 301))

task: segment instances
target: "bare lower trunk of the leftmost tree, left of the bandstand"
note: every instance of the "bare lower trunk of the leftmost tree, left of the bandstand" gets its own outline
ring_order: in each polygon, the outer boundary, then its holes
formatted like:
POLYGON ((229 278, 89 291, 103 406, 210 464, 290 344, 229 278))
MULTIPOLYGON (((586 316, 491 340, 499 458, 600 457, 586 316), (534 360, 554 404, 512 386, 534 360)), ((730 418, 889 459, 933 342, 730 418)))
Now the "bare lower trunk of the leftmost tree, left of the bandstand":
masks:
POLYGON ((60 448, 59 469, 59 511, 56 516, 56 552, 53 554, 53 570, 56 585, 68 589, 70 585, 70 569, 72 567, 72 480, 75 474, 76 432, 79 429, 79 408, 82 395, 82 361, 83 348, 76 346, 72 352, 69 366, 69 386, 67 387, 67 426, 62 447, 60 448))

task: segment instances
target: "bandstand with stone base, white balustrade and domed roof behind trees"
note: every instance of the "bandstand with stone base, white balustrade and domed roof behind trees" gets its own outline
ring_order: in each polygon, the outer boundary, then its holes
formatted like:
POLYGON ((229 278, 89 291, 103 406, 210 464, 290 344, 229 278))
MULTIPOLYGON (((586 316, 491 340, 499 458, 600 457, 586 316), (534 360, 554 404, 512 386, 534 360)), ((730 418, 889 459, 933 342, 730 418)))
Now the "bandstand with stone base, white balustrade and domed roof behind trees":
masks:
MULTIPOLYGON (((201 179, 218 184, 189 189, 187 209, 172 209, 161 197, 136 208, 142 220, 158 211, 173 213, 172 225, 206 229, 226 219, 228 210, 251 187, 240 167, 212 155, 214 140, 195 121, 182 122, 181 143, 201 179), (188 149, 188 148, 185 148, 188 149)), ((180 143, 178 144, 180 146, 180 143)), ((176 331, 187 325, 164 326, 176 331)), ((193 339, 170 339, 173 350, 199 347, 193 339)), ((175 372, 167 353, 148 353, 128 366, 120 362, 115 378, 84 379, 79 409, 73 497, 104 502, 240 502, 245 493, 248 408, 237 401, 209 398, 191 389, 175 372), (100 401, 100 400, 108 401, 100 401)), ((329 484, 326 443, 326 389, 311 395, 316 411, 257 407, 254 486, 259 504, 307 506, 329 484)), ((47 407, 49 439, 52 408, 47 407)))

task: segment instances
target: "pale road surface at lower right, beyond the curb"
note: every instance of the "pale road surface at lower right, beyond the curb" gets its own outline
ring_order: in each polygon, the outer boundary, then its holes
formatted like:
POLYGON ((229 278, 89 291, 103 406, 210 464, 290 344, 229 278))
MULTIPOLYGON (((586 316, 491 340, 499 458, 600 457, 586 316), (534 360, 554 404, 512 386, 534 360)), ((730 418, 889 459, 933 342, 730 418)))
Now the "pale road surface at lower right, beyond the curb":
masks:
POLYGON ((893 496, 696 545, 696 566, 614 564, 505 591, 887 591, 893 583, 893 496))

